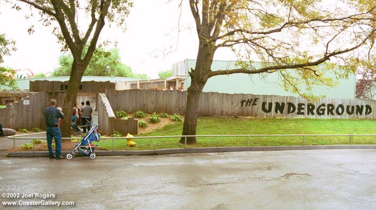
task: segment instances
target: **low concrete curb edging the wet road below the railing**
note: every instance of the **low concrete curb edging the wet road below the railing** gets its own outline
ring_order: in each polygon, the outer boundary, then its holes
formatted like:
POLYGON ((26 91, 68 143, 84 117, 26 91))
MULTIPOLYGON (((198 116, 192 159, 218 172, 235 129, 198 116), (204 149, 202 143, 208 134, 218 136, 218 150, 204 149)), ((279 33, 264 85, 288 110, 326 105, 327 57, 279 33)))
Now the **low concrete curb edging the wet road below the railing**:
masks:
MULTIPOLYGON (((269 146, 269 147, 208 147, 187 149, 161 149, 161 150, 118 150, 96 151, 96 156, 124 156, 124 155, 166 155, 182 153, 208 153, 208 152, 240 152, 240 151, 278 151, 278 150, 311 150, 311 149, 376 149, 376 145, 313 145, 313 146, 269 146)), ((63 156, 69 151, 62 152, 63 156)), ((84 156, 76 153, 76 156, 84 156)), ((11 152, 7 157, 48 157, 48 152, 11 152)))

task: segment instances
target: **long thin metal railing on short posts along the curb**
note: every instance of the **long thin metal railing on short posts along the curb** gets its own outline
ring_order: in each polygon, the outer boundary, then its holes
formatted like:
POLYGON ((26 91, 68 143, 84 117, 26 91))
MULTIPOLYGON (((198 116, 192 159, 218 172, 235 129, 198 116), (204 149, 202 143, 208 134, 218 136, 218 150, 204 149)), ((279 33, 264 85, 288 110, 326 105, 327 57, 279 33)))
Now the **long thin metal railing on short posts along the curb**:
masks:
MULTIPOLYGON (((31 134, 32 135, 32 134, 31 134)), ((142 138, 185 138, 184 148, 187 148, 187 137, 247 137, 247 147, 249 147, 249 142, 251 137, 291 137, 300 136, 302 139, 302 145, 305 145, 306 136, 348 136, 349 144, 352 144, 353 136, 376 136, 376 134, 241 134, 241 135, 168 135, 168 136, 135 136, 135 137, 101 137, 101 140, 112 139, 113 151, 115 151, 115 139, 142 139, 142 138)), ((7 138, 13 139, 13 148, 15 148, 16 140, 29 139, 33 140, 33 152, 35 153, 35 140, 36 139, 47 139, 46 137, 18 137, 18 136, 8 136, 7 138)), ((62 138, 62 139, 80 139, 80 138, 62 138)), ((81 139, 80 139, 81 140, 81 139)))

